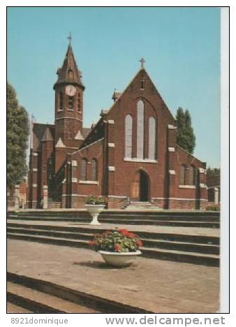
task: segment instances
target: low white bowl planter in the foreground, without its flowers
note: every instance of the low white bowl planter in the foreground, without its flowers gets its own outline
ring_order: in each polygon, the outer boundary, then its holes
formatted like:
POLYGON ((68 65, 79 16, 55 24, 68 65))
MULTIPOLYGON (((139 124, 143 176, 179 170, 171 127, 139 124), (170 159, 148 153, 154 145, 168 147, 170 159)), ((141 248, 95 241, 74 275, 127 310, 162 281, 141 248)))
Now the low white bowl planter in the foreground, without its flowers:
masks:
POLYGON ((108 252, 108 251, 98 251, 101 254, 104 261, 110 266, 115 267, 126 267, 130 266, 133 261, 139 256, 142 252, 140 250, 136 252, 108 252))

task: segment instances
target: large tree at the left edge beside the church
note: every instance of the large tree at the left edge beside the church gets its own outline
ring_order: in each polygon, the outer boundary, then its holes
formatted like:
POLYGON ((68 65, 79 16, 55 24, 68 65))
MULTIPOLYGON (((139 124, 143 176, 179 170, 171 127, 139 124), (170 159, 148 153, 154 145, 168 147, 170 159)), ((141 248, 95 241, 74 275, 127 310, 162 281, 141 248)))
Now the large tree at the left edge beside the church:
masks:
POLYGON ((15 89, 7 83, 7 186, 12 189, 27 173, 29 119, 19 106, 15 89))

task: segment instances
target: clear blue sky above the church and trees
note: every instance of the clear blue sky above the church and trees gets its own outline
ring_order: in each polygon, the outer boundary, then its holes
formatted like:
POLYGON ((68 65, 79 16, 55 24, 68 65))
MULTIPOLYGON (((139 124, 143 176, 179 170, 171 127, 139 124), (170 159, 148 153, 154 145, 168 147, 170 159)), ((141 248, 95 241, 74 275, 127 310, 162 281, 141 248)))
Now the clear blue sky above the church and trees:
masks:
POLYGON ((220 160, 218 8, 8 8, 8 81, 37 122, 54 122, 56 71, 72 33, 82 71, 84 126, 145 68, 173 115, 191 112, 194 154, 220 160))

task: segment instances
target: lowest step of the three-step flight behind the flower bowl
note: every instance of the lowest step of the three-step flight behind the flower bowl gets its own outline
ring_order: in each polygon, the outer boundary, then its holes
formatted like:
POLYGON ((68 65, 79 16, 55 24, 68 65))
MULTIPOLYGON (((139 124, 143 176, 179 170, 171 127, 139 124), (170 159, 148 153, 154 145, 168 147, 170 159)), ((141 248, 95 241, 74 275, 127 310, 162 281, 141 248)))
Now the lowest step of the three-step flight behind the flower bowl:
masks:
MULTIPOLYGON (((59 235, 52 236, 52 235, 34 235, 27 234, 27 233, 8 233, 8 238, 16 239, 16 240, 27 240, 31 242, 43 242, 48 244, 54 245, 64 245, 64 246, 71 246, 71 247, 85 247, 89 248, 88 240, 81 240, 75 238, 65 238, 59 237, 59 235)), ((150 242, 150 240, 149 240, 150 242)), ((165 242, 165 247, 167 243, 165 242)), ((158 244, 156 244, 158 246, 158 244)), ((170 243, 169 243, 170 246, 170 243)), ((174 245, 172 244, 174 247, 174 245)), ((192 245, 192 247, 194 247, 192 245)), ((175 248, 175 247, 174 247, 175 248)), ((142 247, 141 248, 142 255, 147 258, 152 259, 162 259, 162 260, 171 260, 171 261, 181 261, 181 262, 188 262, 188 263, 195 263, 195 264, 202 264, 205 266, 219 266, 219 256, 216 254, 205 254, 199 252, 186 252, 179 251, 174 249, 162 249, 160 247, 142 247)))

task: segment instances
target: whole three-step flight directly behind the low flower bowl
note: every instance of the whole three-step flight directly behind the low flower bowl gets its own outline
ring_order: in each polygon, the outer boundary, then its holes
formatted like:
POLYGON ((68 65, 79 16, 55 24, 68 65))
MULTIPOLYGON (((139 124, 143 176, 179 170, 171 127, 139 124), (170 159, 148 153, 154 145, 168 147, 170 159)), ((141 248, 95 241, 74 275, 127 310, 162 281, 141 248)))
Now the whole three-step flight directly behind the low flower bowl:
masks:
MULTIPOLYGON (((105 229, 8 222, 8 238, 54 245, 89 248, 94 233, 105 229)), ((140 236, 142 255, 152 259, 219 266, 219 238, 177 233, 135 232, 140 236)))

